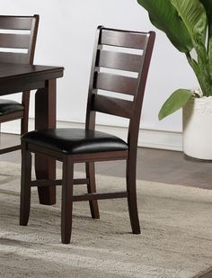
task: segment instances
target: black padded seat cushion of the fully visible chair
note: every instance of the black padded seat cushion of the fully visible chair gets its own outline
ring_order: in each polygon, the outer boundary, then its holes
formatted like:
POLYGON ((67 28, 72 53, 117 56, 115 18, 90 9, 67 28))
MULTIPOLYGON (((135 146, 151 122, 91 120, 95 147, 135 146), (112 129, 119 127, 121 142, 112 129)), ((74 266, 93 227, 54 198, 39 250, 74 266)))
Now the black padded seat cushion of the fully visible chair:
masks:
POLYGON ((128 144, 124 140, 97 130, 33 130, 24 134, 22 140, 66 154, 128 150, 128 144))

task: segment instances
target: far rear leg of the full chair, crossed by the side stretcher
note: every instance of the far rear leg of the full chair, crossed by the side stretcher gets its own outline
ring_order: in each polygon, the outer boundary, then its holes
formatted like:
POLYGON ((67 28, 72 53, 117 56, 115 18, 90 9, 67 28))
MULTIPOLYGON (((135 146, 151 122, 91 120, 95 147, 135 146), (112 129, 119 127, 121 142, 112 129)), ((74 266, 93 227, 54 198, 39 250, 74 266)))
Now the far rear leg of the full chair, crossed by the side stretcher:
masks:
MULTIPOLYGON (((86 177, 89 179, 89 184, 87 184, 88 193, 96 193, 96 183, 95 183, 95 166, 94 162, 86 162, 86 177)), ((99 206, 97 200, 89 201, 90 210, 93 219, 100 218, 99 206)))

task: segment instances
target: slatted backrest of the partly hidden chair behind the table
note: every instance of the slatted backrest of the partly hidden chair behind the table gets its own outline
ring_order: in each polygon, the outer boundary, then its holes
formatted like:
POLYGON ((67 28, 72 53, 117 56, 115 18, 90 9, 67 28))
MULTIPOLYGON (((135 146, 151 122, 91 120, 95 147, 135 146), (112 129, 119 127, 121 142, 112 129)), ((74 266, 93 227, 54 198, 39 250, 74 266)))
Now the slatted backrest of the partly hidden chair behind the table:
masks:
MULTIPOLYGON (((0 15, 0 62, 32 64, 39 26, 39 15, 0 15)), ((22 94, 29 109, 30 92, 22 94)))

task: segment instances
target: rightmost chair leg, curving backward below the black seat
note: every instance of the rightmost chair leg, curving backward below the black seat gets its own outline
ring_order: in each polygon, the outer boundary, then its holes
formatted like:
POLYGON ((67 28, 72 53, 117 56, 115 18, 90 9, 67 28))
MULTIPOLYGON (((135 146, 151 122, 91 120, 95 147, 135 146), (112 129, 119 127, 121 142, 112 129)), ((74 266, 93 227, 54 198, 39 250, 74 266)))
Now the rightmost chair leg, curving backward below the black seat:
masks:
POLYGON ((140 234, 140 225, 137 213, 137 163, 134 160, 127 161, 127 190, 128 190, 128 212, 133 234, 140 234))

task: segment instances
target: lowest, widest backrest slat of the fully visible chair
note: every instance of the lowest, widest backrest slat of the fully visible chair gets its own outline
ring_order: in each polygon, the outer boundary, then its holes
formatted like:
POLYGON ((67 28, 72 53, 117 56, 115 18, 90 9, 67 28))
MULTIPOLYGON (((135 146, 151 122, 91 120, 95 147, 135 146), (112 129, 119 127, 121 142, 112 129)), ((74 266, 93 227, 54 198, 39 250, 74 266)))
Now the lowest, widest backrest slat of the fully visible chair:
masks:
POLYGON ((93 94, 92 109, 119 117, 131 118, 133 103, 115 97, 93 94))

